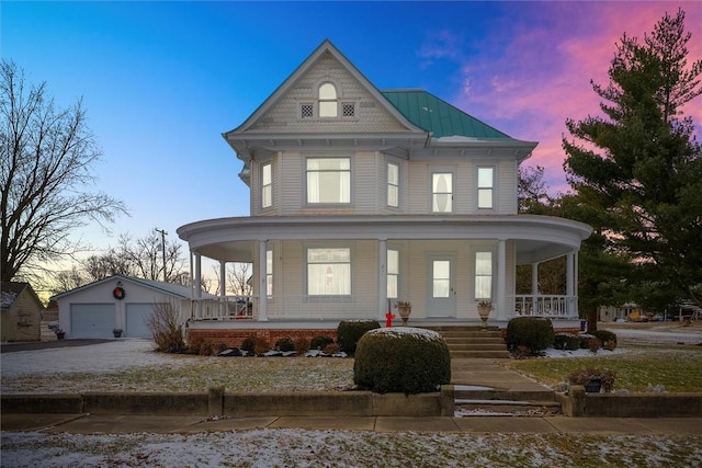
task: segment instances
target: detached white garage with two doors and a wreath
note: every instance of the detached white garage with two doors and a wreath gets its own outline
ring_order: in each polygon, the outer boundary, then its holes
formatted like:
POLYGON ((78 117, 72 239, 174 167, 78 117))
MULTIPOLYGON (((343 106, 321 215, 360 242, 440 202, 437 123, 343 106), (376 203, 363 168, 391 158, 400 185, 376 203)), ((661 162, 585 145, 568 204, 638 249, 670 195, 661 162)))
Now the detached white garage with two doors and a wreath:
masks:
POLYGON ((147 320, 154 306, 172 304, 184 323, 191 316, 191 296, 189 286, 114 275, 52 299, 58 303, 66 338, 111 338, 115 328, 123 330, 124 338, 150 338, 147 320))

